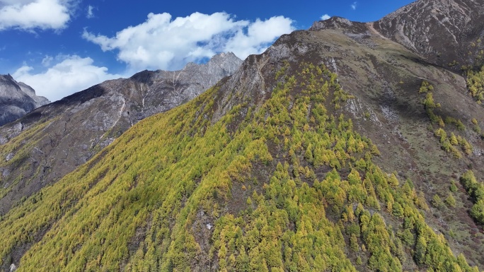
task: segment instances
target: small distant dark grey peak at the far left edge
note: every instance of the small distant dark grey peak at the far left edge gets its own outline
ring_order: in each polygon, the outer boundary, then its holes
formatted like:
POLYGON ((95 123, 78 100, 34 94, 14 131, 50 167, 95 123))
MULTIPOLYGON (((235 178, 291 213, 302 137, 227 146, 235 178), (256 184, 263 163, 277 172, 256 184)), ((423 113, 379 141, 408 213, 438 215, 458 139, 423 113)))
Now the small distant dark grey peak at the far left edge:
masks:
POLYGON ((15 81, 10 75, 0 75, 0 126, 48 103, 47 98, 35 95, 29 85, 15 81))

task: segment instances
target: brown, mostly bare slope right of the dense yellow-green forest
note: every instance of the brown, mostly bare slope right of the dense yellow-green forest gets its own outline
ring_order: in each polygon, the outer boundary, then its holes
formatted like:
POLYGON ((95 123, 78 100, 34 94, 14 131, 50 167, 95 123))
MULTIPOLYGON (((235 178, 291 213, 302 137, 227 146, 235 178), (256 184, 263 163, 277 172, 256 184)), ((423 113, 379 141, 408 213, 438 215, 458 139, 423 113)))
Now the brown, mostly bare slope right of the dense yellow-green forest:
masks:
POLYGON ((375 160, 386 171, 412 179, 429 203, 434 196, 443 202, 456 184, 462 190, 452 194, 456 207, 430 205, 427 220, 448 235, 456 252, 483 264, 483 228, 469 216, 473 200, 459 186, 463 172, 472 169, 480 177, 484 169, 483 107, 473 100, 466 78, 382 37, 369 24, 340 18, 321 24, 299 34, 325 39, 325 64, 338 71, 341 85, 355 96, 345 110, 355 129, 379 147, 375 160), (448 143, 452 135, 461 138, 454 148, 448 143))

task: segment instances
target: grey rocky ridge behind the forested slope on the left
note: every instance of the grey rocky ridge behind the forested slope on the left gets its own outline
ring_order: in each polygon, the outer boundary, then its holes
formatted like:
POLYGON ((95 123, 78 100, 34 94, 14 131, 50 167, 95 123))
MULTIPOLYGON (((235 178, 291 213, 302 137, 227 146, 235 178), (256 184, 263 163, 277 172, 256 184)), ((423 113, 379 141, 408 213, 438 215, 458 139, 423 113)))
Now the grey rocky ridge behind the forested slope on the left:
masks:
POLYGON ((0 127, 0 190, 8 191, 0 199, 0 215, 76 169, 139 120, 200 95, 241 63, 233 53, 222 53, 180 71, 142 71, 94 85, 0 127), (14 143, 19 144, 9 150, 14 143))

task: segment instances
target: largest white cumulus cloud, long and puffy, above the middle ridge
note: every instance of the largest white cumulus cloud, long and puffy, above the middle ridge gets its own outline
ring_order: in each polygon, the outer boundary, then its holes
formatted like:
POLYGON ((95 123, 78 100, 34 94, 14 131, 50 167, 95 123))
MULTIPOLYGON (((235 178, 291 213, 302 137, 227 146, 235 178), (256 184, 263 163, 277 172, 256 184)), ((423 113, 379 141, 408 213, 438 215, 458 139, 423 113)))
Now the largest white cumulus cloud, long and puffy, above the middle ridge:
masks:
POLYGON ((144 23, 120 30, 115 37, 84 30, 83 38, 103 51, 116 50, 117 59, 134 71, 173 70, 219 52, 231 51, 241 59, 261 53, 277 37, 292 32, 292 23, 283 16, 250 22, 224 12, 192 13, 174 20, 169 13, 150 13, 144 23))

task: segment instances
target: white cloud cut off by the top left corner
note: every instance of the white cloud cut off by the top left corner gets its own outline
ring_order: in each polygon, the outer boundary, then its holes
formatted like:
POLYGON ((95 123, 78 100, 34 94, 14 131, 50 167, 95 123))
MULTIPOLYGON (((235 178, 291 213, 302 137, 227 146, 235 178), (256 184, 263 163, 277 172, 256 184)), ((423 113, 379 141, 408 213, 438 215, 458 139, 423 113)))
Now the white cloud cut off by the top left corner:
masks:
POLYGON ((74 0, 0 0, 0 30, 60 30, 71 18, 74 0))

